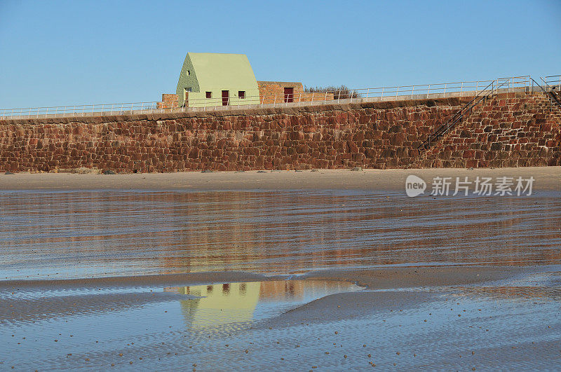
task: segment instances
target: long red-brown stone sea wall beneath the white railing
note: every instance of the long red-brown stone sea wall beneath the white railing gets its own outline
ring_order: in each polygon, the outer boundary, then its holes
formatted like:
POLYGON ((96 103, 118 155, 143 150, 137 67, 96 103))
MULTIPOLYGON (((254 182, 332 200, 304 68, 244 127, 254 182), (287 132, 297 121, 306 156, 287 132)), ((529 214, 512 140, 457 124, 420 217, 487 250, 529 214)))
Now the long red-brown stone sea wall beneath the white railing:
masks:
POLYGON ((561 111, 537 93, 496 96, 419 154, 470 99, 1 120, 0 170, 560 165, 561 111))

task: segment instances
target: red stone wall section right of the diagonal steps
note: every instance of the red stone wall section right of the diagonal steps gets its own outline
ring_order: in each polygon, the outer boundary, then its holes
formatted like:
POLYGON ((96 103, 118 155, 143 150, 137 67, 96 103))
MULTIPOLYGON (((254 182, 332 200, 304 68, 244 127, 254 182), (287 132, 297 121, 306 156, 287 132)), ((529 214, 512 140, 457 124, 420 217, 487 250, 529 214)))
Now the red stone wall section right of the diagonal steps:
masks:
POLYGON ((508 93, 480 106, 417 167, 561 165, 561 110, 541 94, 508 93))

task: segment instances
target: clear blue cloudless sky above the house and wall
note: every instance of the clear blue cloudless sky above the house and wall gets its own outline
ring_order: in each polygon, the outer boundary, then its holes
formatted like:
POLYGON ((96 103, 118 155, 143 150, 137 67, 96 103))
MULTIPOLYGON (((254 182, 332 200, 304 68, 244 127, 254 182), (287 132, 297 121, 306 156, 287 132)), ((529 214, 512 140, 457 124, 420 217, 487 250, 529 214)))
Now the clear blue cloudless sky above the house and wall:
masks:
POLYGON ((561 0, 0 0, 0 109, 161 99, 187 52, 371 88, 561 74, 561 0))

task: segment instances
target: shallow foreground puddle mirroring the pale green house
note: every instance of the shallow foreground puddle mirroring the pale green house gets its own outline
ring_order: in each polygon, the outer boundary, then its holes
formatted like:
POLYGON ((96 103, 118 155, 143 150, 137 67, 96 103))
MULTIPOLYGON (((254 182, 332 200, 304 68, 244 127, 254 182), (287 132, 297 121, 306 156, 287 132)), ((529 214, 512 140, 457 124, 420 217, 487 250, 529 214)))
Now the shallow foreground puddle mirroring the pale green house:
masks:
POLYGON ((159 355, 170 340, 174 347, 191 351, 189 346, 205 347, 219 335, 235 336, 255 321, 316 298, 360 289, 324 280, 5 289, 0 294, 0 370, 50 369, 60 363, 108 366, 133 350, 138 361, 143 355, 159 355))

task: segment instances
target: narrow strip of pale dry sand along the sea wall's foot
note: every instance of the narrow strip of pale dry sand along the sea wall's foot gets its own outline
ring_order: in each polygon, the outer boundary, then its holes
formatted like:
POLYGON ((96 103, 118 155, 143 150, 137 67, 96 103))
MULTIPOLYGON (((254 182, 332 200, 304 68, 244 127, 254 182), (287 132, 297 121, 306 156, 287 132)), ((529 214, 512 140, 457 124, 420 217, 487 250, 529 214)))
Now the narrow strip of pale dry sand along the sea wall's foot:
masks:
POLYGON ((561 191, 561 167, 433 168, 423 170, 318 170, 250 172, 176 172, 147 174, 0 174, 0 190, 384 190, 403 191, 415 174, 433 177, 534 177, 538 190, 561 191))

